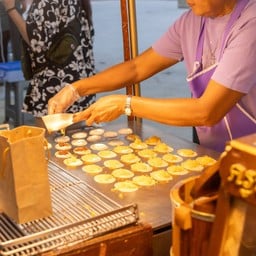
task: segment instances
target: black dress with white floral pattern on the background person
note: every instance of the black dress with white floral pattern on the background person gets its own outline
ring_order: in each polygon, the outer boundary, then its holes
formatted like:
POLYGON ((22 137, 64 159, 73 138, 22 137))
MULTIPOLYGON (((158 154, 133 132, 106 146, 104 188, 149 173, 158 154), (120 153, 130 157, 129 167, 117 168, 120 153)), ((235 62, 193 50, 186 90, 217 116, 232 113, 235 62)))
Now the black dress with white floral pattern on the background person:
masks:
MULTIPOLYGON (((48 100, 67 83, 95 74, 93 56, 93 27, 86 19, 80 0, 34 0, 26 19, 30 47, 27 47, 31 66, 36 69, 24 99, 23 111, 35 117, 47 114, 48 100), (56 35, 70 22, 80 21, 80 42, 65 66, 47 58, 56 35)), ((79 99, 67 112, 78 112, 95 101, 95 95, 79 99)))

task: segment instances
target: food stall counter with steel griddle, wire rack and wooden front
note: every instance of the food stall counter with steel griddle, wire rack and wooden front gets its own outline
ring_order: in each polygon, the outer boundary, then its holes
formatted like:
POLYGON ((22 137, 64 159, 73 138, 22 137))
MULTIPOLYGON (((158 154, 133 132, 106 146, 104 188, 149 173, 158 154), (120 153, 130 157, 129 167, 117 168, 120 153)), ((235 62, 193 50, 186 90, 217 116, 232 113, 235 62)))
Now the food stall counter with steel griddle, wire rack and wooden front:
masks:
MULTIPOLYGON (((73 152, 75 146, 72 141, 75 139, 72 136, 86 133, 87 136, 83 139, 86 141, 86 147, 91 153, 99 154, 103 151, 104 145, 108 151, 114 151, 116 146, 113 145, 116 144, 111 144, 111 141, 121 141, 124 146, 130 147, 134 141, 128 139, 129 134, 119 133, 121 129, 128 128, 133 135, 139 136, 141 141, 146 141, 147 138, 159 138, 162 143, 170 147, 166 152, 176 155, 179 149, 190 149, 196 153, 193 157, 182 157, 183 162, 185 159, 196 159, 200 156, 210 156, 215 159, 218 157, 216 152, 172 136, 165 126, 161 129, 161 126, 156 128, 136 121, 118 120, 101 127, 83 127, 67 131, 65 137, 70 138, 69 143, 72 145, 70 150, 73 152), (99 129, 108 136, 103 135, 98 141, 89 141, 90 132, 99 129), (95 145, 98 147, 95 148, 95 145)), ((85 171, 83 167, 88 164, 84 160, 82 165, 70 167, 67 161, 65 162, 67 158, 56 157, 58 151, 56 139, 59 137, 63 135, 58 132, 47 137, 51 145, 48 168, 53 215, 17 225, 2 214, 1 254, 82 255, 81 251, 84 251, 88 253, 86 255, 90 255, 91 250, 91 255, 127 255, 125 252, 129 251, 133 251, 134 255, 169 255, 172 231, 170 190, 177 182, 190 176, 200 175, 202 170, 170 175, 166 181, 156 180, 153 185, 145 186, 140 184, 137 186, 138 189, 132 192, 123 192, 114 186, 122 178, 115 178, 115 182, 102 184, 95 181, 97 173, 85 171), (122 248, 126 248, 125 252, 122 248), (124 254, 118 254, 120 250, 124 254)), ((153 147, 147 148, 153 149, 153 147)), ((138 156, 138 151, 134 150, 132 154, 138 156)), ((160 157, 164 155, 161 152, 157 154, 160 157)), ((74 155, 75 159, 85 159, 81 155, 72 153, 73 159, 74 155)), ((114 159, 120 160, 121 155, 118 154, 114 159)), ((141 158, 140 161, 148 160, 141 158)), ((110 174, 113 170, 111 167, 106 168, 104 162, 105 160, 101 159, 97 165, 103 167, 102 173, 110 174)), ((137 170, 135 176, 150 177, 151 172, 159 169, 167 173, 166 170, 171 165, 173 164, 169 163, 165 167, 155 166, 147 173, 137 170)), ((130 164, 126 163, 124 167, 129 169, 129 166, 130 164)))

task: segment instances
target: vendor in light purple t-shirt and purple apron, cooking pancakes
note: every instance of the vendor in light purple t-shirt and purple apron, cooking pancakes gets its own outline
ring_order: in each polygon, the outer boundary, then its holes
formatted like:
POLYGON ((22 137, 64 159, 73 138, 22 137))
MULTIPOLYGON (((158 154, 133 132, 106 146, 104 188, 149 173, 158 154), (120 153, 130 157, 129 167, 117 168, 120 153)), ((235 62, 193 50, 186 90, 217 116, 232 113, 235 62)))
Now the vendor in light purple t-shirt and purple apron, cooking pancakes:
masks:
POLYGON ((110 95, 77 113, 74 121, 91 125, 132 114, 194 126, 200 144, 220 152, 226 141, 255 133, 256 0, 187 1, 190 10, 151 48, 63 89, 50 99, 49 114, 65 111, 80 96, 138 83, 184 61, 192 98, 110 95))

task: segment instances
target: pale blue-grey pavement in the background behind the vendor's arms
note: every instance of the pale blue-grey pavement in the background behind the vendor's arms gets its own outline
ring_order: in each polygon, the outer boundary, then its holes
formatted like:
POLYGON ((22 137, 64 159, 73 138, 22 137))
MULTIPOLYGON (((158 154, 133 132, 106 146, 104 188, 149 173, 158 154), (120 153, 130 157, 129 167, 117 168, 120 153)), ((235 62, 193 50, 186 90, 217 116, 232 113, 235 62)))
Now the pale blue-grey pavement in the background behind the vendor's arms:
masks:
MULTIPOLYGON (((179 17, 185 8, 179 8, 175 0, 136 0, 136 28, 138 53, 150 47, 168 26, 179 17)), ((92 0, 95 28, 94 55, 97 72, 123 61, 123 39, 121 27, 121 8, 118 0, 92 0)), ((190 97, 186 83, 183 63, 162 71, 140 83, 141 96, 167 98, 190 97)), ((118 90, 106 94, 125 93, 118 90)), ((4 88, 0 86, 0 123, 4 120, 4 88)), ((153 126, 161 124, 143 120, 153 126)), ((162 125, 161 125, 162 126, 162 125)), ((178 137, 192 140, 190 127, 167 126, 178 137)))

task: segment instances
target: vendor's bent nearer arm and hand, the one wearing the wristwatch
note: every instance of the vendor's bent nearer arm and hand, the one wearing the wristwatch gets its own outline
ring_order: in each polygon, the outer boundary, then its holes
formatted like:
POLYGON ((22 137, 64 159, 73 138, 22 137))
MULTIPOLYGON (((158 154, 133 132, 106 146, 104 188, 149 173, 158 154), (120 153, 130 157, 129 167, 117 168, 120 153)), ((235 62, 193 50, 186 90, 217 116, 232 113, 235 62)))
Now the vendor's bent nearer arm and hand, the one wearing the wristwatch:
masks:
MULTIPOLYGON (((212 126, 241 99, 242 93, 210 81, 201 98, 153 99, 132 97, 134 116, 175 126, 212 126)), ((77 114, 75 121, 112 121, 124 114, 126 95, 111 95, 100 98, 87 110, 77 114)))

